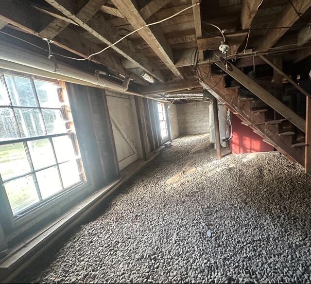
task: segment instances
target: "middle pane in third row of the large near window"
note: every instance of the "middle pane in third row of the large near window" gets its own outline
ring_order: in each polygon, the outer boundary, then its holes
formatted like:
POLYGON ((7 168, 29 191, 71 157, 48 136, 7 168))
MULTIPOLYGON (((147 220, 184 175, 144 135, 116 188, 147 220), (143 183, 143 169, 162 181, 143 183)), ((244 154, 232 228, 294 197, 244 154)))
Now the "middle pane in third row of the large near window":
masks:
POLYGON ((27 144, 36 170, 56 163, 49 139, 29 141, 27 144))

